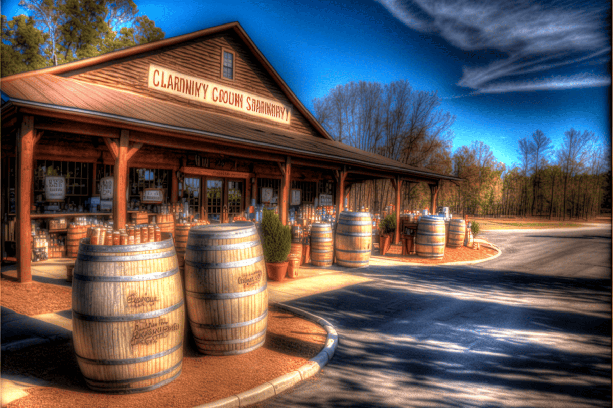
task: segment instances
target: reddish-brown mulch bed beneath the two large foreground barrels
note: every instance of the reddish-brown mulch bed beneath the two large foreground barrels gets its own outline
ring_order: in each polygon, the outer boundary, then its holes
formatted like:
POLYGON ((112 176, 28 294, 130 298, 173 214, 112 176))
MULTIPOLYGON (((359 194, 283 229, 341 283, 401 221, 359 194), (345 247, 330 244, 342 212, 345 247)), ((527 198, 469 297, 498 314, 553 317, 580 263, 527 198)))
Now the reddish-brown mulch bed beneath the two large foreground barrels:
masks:
POLYGON ((192 408, 300 368, 321 351, 326 336, 318 324, 270 306, 264 346, 243 355, 223 357, 202 355, 190 349, 184 354, 183 372, 178 379, 156 390, 130 395, 89 390, 70 340, 28 347, 2 353, 2 374, 32 376, 47 380, 50 385, 28 389, 29 396, 11 402, 7 408, 192 408))

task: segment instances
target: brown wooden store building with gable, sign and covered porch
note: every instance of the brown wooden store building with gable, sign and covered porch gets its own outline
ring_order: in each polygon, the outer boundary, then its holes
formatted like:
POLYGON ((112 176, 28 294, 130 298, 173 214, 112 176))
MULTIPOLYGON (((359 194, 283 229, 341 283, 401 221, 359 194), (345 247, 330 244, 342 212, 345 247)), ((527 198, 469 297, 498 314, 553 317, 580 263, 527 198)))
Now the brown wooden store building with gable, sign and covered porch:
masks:
POLYGON ((0 89, 2 250, 13 245, 22 282, 32 220, 112 214, 122 226, 145 189, 213 222, 264 203, 287 224, 305 203, 338 214, 365 179, 392 179, 397 208, 403 181, 427 183, 436 208, 440 180, 457 180, 333 141, 238 23, 10 75, 0 89), (55 212, 53 174, 67 184, 55 212))

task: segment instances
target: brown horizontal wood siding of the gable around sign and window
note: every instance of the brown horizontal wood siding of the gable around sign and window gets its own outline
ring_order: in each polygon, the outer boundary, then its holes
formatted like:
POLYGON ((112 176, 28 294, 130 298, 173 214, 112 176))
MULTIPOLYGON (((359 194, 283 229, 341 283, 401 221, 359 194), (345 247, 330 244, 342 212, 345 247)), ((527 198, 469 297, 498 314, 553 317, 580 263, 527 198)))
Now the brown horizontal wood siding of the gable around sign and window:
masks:
POLYGON ((192 40, 177 47, 160 50, 153 55, 136 56, 128 61, 117 62, 104 67, 92 67, 85 72, 67 75, 90 83, 111 86, 156 99, 169 100, 181 105, 202 108, 203 110, 224 115, 237 116, 256 123, 272 124, 271 121, 255 118, 234 110, 215 107, 204 102, 189 100, 171 94, 154 91, 147 87, 149 64, 157 64, 177 72, 204 78, 232 88, 247 91, 259 96, 278 100, 292 107, 292 119, 289 126, 276 124, 281 128, 291 129, 300 134, 322 137, 313 129, 307 119, 289 102, 283 91, 276 85, 237 36, 223 32, 204 39, 192 40), (221 77, 221 50, 235 51, 235 80, 221 77))

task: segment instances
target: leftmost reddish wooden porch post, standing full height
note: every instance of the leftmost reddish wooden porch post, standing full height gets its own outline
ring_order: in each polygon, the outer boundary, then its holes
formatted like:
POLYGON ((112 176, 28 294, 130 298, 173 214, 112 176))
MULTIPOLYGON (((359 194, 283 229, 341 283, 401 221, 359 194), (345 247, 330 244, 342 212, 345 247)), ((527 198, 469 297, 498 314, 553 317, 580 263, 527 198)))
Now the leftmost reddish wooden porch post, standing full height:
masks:
POLYGON ((17 183, 17 280, 20 283, 32 282, 31 253, 31 201, 32 168, 34 160, 34 117, 24 116, 21 121, 21 133, 17 141, 18 183, 17 183))

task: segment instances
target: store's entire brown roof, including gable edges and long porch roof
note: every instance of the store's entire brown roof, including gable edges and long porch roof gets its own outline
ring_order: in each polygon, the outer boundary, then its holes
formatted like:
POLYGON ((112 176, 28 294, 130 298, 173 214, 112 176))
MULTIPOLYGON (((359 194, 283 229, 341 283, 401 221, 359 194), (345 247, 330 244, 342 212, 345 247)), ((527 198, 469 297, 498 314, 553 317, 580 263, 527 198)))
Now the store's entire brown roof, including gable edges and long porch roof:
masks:
POLYGON ((48 116, 53 116, 53 113, 57 112, 70 113, 84 118, 104 119, 115 123, 117 126, 130 124, 144 129, 165 129, 177 132, 177 134, 197 135, 213 139, 224 144, 232 143, 233 145, 260 150, 265 148, 271 151, 282 151, 283 153, 293 153, 314 160, 356 165, 365 169, 394 172, 405 176, 413 175, 417 178, 431 180, 460 180, 453 176, 432 172, 427 168, 405 165, 379 154, 332 140, 332 137, 313 118, 307 108, 302 105, 257 50, 238 23, 230 23, 192 32, 184 36, 138 45, 82 61, 71 62, 63 66, 10 75, 0 80, 0 89, 3 94, 9 97, 9 103, 4 104, 2 108, 3 112, 8 105, 13 105, 36 108, 39 112, 47 112, 48 116), (205 111, 195 107, 186 107, 185 105, 155 99, 123 89, 76 80, 66 75, 76 70, 139 55, 170 45, 177 45, 227 29, 233 29, 245 40, 245 43, 254 51, 254 55, 261 60, 262 65, 283 89, 292 104, 326 138, 299 134, 283 127, 246 121, 235 116, 205 111))

